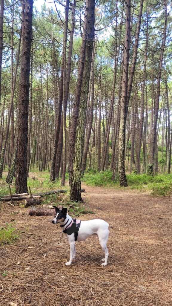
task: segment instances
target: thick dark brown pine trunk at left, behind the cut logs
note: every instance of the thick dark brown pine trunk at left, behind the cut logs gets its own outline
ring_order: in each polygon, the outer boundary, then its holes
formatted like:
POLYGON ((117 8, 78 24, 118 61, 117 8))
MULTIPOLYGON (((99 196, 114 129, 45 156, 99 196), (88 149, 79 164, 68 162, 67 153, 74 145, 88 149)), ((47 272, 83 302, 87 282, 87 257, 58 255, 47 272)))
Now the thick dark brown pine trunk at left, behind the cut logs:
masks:
POLYGON ((16 192, 28 191, 27 186, 27 145, 28 145, 28 104, 29 74, 32 40, 33 0, 26 0, 24 11, 24 31, 22 35, 21 76, 18 102, 18 148, 16 162, 16 192))

